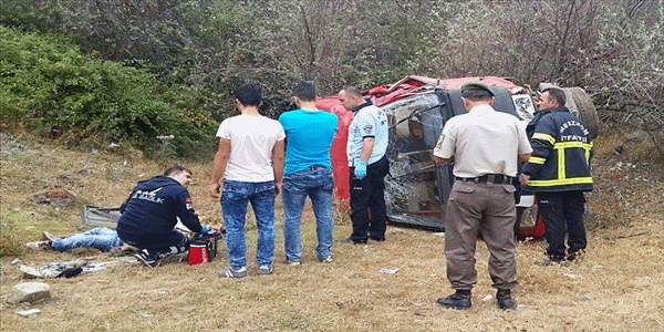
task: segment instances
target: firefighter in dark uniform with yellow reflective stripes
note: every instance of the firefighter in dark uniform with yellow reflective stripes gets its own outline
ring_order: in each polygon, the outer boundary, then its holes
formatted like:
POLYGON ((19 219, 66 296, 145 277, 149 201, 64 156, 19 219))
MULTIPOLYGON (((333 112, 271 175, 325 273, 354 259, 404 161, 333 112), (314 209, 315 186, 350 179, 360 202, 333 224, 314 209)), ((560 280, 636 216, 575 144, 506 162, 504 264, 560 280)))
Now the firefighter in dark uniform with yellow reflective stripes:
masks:
POLYGON ((546 89, 536 103, 540 111, 526 128, 533 152, 523 165, 522 184, 535 191, 544 219, 549 259, 541 264, 550 266, 574 260, 585 249, 583 191, 592 190, 593 151, 588 128, 564 107, 562 90, 546 89))

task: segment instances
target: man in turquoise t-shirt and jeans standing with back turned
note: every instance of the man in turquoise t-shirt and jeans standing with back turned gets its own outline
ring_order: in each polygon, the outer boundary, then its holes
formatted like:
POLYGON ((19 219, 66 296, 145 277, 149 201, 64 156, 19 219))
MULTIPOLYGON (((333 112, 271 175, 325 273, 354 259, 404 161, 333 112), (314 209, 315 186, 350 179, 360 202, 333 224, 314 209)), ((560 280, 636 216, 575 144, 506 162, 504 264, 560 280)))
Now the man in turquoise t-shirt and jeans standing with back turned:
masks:
POLYGON ((281 188, 283 262, 298 266, 302 259, 300 221, 307 196, 311 199, 317 219, 315 255, 319 261, 331 262, 334 180, 330 147, 336 132, 336 115, 315 107, 315 87, 311 82, 295 85, 293 103, 299 110, 279 116, 286 132, 286 167, 281 188))

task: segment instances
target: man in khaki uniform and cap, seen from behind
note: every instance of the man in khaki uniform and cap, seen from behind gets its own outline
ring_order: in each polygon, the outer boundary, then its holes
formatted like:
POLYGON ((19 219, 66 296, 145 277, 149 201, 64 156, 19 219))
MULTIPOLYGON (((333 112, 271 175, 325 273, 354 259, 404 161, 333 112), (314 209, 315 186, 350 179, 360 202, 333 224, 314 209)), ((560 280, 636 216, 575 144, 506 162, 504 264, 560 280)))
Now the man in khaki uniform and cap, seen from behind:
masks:
POLYGON ((477 281, 475 248, 479 237, 489 249, 489 274, 500 309, 517 307, 511 289, 517 286, 512 185, 517 159, 532 152, 519 120, 495 111, 494 92, 480 82, 461 86, 467 114, 452 117, 434 148, 434 160, 454 160, 455 181, 446 210, 445 256, 447 279, 456 292, 438 299, 446 308, 470 308, 477 281))

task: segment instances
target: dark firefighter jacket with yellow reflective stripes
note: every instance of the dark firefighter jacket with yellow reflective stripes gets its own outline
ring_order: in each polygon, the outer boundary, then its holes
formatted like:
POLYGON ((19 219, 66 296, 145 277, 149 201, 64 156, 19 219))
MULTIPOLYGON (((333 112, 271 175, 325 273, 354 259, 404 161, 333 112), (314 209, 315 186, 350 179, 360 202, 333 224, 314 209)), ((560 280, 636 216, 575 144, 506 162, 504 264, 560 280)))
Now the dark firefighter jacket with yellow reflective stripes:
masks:
POLYGON ((526 127, 532 154, 523 165, 532 191, 592 190, 590 133, 567 107, 540 111, 526 127))

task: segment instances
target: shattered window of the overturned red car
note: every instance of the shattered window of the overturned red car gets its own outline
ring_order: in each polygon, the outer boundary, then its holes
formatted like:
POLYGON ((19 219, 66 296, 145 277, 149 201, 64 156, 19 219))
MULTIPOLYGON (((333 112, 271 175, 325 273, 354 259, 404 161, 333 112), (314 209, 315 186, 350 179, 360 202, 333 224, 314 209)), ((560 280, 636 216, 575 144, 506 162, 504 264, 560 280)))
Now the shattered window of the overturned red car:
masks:
POLYGON ((390 175, 385 200, 391 221, 443 227, 449 195, 449 167, 436 165, 433 148, 450 116, 435 93, 415 95, 383 107, 390 121, 390 175), (443 199, 440 199, 443 193, 443 199))

